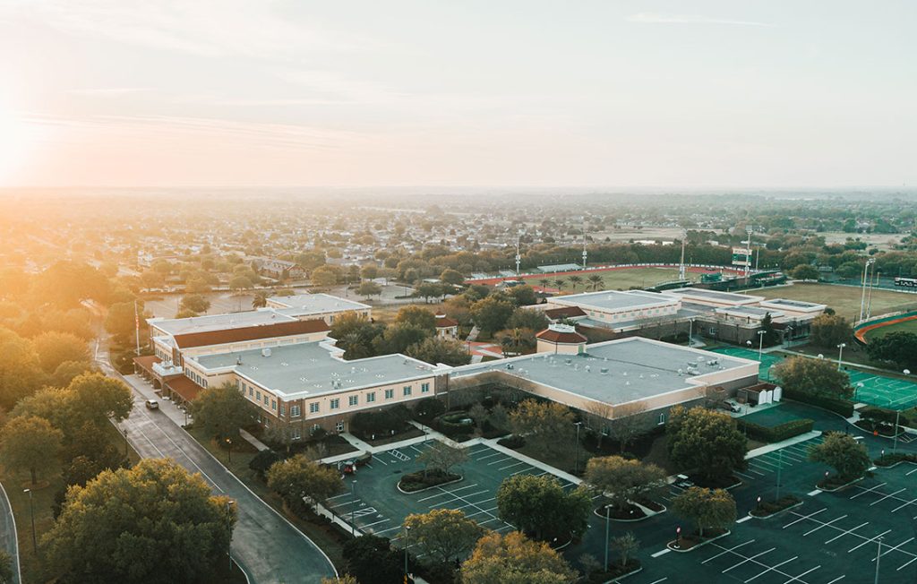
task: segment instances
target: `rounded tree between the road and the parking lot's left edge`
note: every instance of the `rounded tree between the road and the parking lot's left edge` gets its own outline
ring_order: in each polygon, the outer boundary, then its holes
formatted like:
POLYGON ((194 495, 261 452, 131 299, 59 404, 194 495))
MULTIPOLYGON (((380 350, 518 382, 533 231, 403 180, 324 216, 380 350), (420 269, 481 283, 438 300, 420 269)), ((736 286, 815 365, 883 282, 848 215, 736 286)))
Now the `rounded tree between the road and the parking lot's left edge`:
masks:
POLYGON ((307 498, 313 504, 324 503, 344 490, 337 470, 309 460, 303 455, 275 462, 268 468, 268 488, 283 497, 288 505, 301 505, 307 498))

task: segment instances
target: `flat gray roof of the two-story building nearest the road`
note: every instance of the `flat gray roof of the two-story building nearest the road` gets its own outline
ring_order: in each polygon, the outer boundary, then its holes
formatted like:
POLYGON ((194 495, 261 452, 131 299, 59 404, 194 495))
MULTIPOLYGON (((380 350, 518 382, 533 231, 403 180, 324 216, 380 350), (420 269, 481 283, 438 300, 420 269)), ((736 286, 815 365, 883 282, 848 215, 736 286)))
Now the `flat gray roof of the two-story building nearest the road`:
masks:
MULTIPOLYGON (((344 361, 335 358, 320 341, 271 347, 271 356, 249 349, 194 358, 204 369, 232 367, 239 374, 283 397, 309 397, 333 391, 385 385, 433 375, 434 366, 404 357, 344 361), (238 365, 241 358, 242 364, 238 365)), ((415 391, 420 391, 415 388, 415 391)))

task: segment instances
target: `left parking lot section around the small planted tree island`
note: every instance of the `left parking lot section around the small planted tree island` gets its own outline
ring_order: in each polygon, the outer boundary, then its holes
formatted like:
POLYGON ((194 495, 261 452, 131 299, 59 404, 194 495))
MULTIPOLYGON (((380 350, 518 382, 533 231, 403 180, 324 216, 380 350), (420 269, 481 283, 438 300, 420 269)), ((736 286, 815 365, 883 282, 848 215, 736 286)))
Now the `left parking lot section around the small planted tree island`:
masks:
MULTIPOLYGON (((460 510, 484 527, 503 533, 514 530, 497 516, 496 494, 503 479, 547 474, 547 470, 524 460, 477 444, 469 446, 468 462, 453 470, 464 475, 461 481, 410 494, 399 491, 398 480, 403 474, 423 469, 416 457, 432 445, 433 441, 428 441, 375 455, 370 465, 348 478, 348 492, 333 497, 327 507, 344 521, 352 520, 360 532, 394 541, 401 537, 404 517, 433 509, 460 510)), ((559 480, 565 489, 575 486, 569 480, 559 480)))

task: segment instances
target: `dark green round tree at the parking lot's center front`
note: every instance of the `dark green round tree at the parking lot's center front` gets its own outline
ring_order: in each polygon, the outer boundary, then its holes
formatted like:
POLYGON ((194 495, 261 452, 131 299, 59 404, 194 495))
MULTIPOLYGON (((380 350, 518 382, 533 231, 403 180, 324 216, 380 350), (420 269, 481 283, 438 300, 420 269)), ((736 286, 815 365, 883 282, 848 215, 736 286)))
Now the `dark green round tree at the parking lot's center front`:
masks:
POLYGON ((514 475, 497 490, 497 509, 506 523, 536 539, 579 537, 588 527, 592 508, 589 490, 567 492, 558 479, 514 475))

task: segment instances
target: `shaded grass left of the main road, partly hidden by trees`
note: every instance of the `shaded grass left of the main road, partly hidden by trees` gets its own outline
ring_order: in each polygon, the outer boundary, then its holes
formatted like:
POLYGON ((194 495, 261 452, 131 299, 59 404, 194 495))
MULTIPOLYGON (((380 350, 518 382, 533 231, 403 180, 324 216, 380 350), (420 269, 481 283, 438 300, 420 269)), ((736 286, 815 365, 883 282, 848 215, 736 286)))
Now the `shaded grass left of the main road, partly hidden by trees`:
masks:
MULTIPOLYGON (((124 436, 114 425, 105 425, 105 437, 119 450, 124 449, 124 436)), ((140 459, 137 452, 129 446, 127 447, 127 457, 130 459, 131 464, 135 464, 140 459)), ((41 556, 35 556, 32 548, 28 493, 23 492, 23 489, 32 488, 28 472, 17 474, 3 468, 0 471, 0 481, 3 482, 6 495, 9 497, 10 505, 13 507, 13 515, 16 517, 19 561, 22 568, 23 582, 46 581, 53 574, 49 572, 41 556)), ((39 477, 39 485, 32 490, 32 506, 35 510, 35 534, 39 541, 39 554, 41 553, 41 536, 54 526, 54 513, 51 511, 51 505, 54 503, 54 495, 62 486, 63 478, 60 472, 57 472, 53 475, 39 477)))

